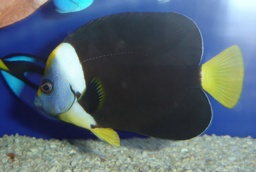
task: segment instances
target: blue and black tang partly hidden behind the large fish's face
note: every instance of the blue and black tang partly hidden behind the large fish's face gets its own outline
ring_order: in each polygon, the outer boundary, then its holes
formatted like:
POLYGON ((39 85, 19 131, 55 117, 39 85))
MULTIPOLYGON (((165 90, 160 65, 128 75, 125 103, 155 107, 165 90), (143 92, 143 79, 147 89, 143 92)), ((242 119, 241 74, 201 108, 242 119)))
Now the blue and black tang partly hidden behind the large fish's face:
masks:
POLYGON ((55 119, 34 106, 34 96, 32 96, 38 90, 40 84, 38 78, 44 74, 45 65, 45 58, 30 54, 10 54, 0 58, 0 72, 12 92, 40 114, 55 119))

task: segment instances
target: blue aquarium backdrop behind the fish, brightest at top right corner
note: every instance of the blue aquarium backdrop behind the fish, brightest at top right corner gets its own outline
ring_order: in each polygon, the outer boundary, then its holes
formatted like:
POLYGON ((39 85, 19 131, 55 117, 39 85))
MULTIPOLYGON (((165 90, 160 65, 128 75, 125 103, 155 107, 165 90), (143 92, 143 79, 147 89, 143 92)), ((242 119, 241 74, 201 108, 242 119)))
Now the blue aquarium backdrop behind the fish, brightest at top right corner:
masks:
MULTIPOLYGON (((0 28, 0 56, 25 53, 47 58, 76 28, 119 12, 178 12, 191 18, 201 31, 201 63, 238 44, 244 56, 242 95, 228 109, 208 95, 212 123, 204 134, 256 138, 256 2, 254 0, 95 0, 79 12, 60 14, 47 2, 34 14, 0 28)), ((40 80, 38 81, 40 82, 40 80)), ((35 92, 28 92, 34 97, 35 92)), ((42 116, 20 101, 0 76, 0 137, 20 134, 36 138, 96 138, 89 130, 42 116)), ((141 136, 118 131, 120 138, 141 136)))

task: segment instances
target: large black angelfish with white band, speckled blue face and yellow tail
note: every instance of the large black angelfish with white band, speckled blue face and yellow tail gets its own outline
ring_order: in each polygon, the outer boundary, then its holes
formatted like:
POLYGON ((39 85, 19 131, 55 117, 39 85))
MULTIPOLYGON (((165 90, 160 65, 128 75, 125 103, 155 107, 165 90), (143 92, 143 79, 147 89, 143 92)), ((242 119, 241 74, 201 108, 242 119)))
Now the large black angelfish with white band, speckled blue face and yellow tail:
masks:
POLYGON ((175 12, 125 12, 88 22, 50 54, 35 105, 120 146, 113 130, 187 140, 212 119, 203 90, 233 108, 244 64, 231 46, 198 66, 202 36, 175 12))

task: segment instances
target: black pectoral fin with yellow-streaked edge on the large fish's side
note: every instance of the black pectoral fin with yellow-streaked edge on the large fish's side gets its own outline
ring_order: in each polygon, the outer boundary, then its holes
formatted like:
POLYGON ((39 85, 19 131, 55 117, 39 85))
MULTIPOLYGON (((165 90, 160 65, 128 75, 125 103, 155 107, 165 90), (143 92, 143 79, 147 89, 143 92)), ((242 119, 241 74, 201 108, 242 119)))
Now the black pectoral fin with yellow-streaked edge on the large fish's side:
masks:
POLYGON ((78 98, 78 103, 87 113, 93 113, 99 110, 103 103, 105 92, 99 78, 94 78, 78 98))

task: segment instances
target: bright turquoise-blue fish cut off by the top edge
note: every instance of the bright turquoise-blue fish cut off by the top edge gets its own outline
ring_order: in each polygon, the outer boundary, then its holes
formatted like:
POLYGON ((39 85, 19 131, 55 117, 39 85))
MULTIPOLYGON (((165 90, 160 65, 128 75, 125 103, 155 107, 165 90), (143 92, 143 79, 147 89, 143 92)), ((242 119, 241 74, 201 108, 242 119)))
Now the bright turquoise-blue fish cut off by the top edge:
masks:
POLYGON ((59 13, 76 12, 87 8, 94 0, 53 0, 59 13))

